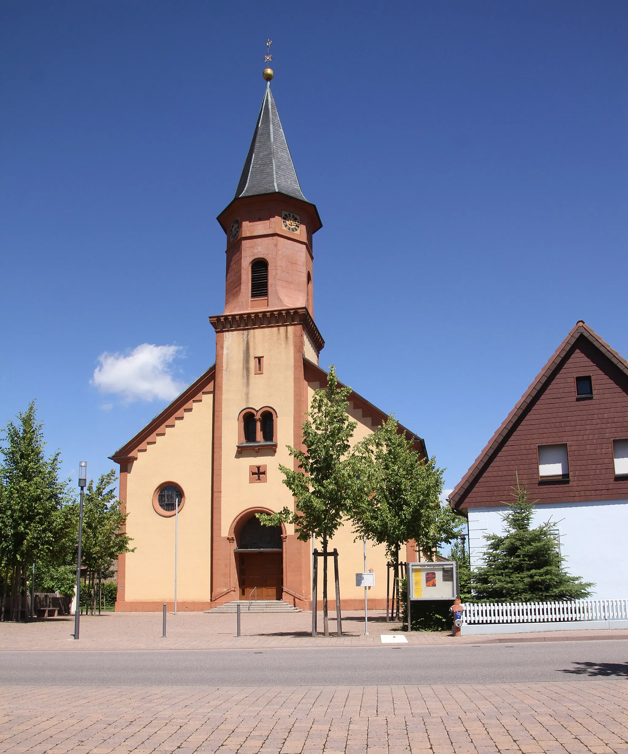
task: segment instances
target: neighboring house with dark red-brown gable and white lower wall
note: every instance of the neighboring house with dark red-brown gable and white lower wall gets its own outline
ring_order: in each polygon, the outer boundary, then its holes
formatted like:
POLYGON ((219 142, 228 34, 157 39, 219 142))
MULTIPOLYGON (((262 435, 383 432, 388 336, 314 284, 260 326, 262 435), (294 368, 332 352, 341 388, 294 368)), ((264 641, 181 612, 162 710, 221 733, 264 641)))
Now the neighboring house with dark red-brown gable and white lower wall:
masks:
POLYGON ((628 596, 628 363, 579 321, 450 495, 468 516, 471 566, 502 531, 515 472, 555 522, 566 569, 593 596, 628 596))

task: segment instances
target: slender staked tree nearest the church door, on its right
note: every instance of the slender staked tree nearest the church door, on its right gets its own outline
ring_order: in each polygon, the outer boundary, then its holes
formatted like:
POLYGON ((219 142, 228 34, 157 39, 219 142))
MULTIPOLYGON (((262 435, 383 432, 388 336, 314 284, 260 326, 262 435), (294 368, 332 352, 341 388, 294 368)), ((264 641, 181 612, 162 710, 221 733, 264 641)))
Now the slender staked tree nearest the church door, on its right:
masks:
MULTIPOLYGON (((331 366, 327 388, 314 392, 312 404, 303 422, 304 450, 288 446, 290 455, 298 461, 297 470, 279 464, 283 483, 295 499, 294 510, 285 507, 279 513, 258 513, 261 523, 278 526, 294 524, 300 541, 314 537, 322 540, 323 553, 328 541, 342 526, 352 505, 368 495, 364 459, 351 448, 351 438, 357 421, 351 421, 346 409, 351 388, 339 384, 336 370, 331 366)), ((323 626, 328 625, 328 568, 323 558, 323 626)), ((316 610, 316 605, 312 606, 316 610)))

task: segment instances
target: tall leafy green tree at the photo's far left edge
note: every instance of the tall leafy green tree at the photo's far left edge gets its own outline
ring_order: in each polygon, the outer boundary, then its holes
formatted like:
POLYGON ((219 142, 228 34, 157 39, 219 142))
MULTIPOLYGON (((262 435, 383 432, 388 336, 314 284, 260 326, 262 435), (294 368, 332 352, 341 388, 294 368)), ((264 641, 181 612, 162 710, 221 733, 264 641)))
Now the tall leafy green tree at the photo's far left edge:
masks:
POLYGON ((9 421, 0 447, 0 563, 3 571, 2 611, 5 618, 8 585, 12 615, 19 620, 23 581, 34 561, 55 562, 65 541, 61 511, 72 499, 59 480, 59 451, 46 458, 43 425, 35 402, 9 421))

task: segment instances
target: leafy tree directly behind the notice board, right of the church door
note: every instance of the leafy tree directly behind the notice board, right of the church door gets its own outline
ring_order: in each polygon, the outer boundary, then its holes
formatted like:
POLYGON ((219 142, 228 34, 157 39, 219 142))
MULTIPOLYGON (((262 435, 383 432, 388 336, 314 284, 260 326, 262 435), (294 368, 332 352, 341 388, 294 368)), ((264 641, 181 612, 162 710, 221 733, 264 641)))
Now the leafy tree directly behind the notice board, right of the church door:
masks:
MULTIPOLYGON (((394 566, 397 617, 400 608, 399 550, 414 540, 420 552, 434 556, 441 544, 459 536, 462 523, 441 505, 443 470, 436 460, 421 458, 394 416, 361 443, 370 458, 370 497, 357 498, 352 509, 355 533, 386 545, 394 566)), ((366 468, 367 464, 363 464, 366 468)))

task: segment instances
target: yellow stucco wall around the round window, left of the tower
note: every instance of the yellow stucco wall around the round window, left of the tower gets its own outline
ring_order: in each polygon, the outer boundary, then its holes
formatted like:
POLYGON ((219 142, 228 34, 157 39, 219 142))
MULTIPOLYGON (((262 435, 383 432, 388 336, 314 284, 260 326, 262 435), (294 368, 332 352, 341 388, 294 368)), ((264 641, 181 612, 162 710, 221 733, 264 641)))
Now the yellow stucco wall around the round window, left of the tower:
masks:
POLYGON ((174 599, 175 517, 160 516, 152 504, 164 481, 180 484, 185 495, 178 515, 177 598, 209 601, 213 398, 204 394, 130 468, 127 533, 136 552, 126 556, 127 602, 174 599))

